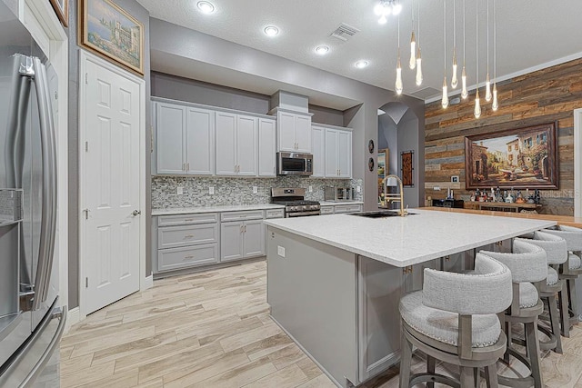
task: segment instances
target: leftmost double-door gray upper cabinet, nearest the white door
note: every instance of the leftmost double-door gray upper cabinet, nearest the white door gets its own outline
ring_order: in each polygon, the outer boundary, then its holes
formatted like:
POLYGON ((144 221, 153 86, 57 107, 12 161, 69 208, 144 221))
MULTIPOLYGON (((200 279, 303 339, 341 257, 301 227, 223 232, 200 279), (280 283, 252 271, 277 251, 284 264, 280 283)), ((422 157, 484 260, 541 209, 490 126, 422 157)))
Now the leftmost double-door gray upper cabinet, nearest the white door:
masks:
POLYGON ((154 103, 156 174, 214 174, 215 113, 154 103))

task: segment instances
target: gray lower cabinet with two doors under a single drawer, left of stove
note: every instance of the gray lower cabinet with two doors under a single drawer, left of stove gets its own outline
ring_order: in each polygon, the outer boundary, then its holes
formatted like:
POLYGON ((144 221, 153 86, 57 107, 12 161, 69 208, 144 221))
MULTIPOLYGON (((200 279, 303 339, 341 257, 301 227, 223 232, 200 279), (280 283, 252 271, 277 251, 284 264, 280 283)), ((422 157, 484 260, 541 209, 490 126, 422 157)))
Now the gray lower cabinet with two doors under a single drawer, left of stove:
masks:
POLYGON ((220 261, 246 259, 265 255, 263 211, 227 212, 221 214, 220 261))

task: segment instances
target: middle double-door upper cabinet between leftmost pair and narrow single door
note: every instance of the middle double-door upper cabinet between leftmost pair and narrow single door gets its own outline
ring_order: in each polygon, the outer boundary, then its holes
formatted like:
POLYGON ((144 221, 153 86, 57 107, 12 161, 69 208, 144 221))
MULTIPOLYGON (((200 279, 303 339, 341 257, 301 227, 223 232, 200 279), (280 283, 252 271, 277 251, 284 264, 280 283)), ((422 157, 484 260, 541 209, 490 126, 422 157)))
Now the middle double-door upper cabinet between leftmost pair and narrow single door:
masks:
POLYGON ((258 119, 216 112, 216 175, 256 176, 258 119))

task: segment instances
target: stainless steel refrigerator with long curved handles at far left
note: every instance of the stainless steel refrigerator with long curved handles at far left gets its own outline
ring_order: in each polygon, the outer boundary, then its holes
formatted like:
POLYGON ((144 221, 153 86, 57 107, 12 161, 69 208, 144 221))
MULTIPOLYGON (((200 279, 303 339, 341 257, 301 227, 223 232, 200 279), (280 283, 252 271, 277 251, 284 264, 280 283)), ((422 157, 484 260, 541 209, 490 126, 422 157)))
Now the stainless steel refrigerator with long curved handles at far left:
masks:
POLYGON ((56 85, 0 1, 0 387, 59 385, 56 85))

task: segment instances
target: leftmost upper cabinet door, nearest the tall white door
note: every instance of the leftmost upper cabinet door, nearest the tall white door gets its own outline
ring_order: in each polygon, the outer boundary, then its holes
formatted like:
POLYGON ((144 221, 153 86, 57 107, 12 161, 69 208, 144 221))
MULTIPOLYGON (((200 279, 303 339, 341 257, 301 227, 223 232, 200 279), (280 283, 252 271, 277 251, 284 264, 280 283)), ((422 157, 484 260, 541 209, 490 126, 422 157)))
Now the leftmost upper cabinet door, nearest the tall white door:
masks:
POLYGON ((157 174, 184 174, 186 108, 165 103, 156 105, 157 174))

